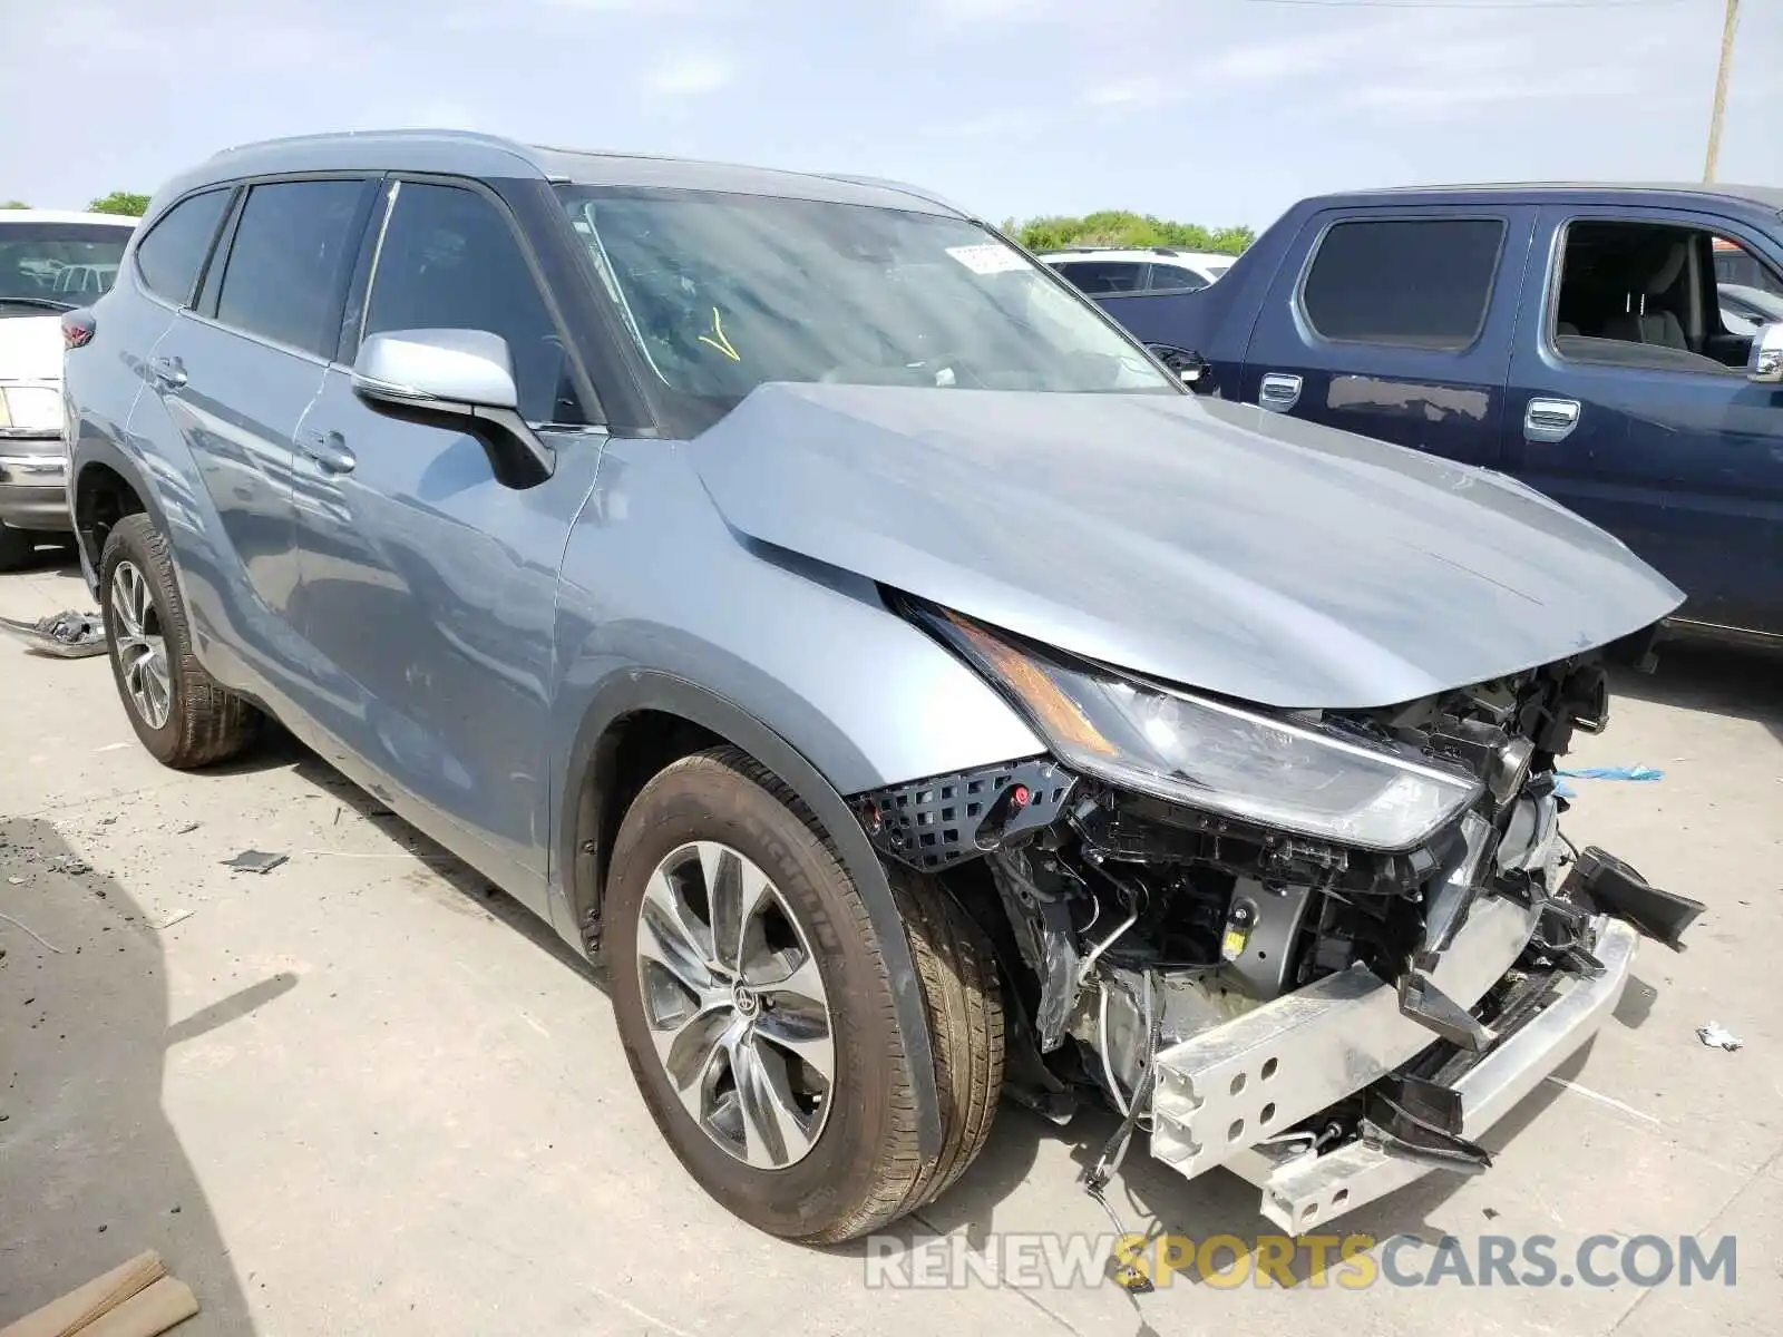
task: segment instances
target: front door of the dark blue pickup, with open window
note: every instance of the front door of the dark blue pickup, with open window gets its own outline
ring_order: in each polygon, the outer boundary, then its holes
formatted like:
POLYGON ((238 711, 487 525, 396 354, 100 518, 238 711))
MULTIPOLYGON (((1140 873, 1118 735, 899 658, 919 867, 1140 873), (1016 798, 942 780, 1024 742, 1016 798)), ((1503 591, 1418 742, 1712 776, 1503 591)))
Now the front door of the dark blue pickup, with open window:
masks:
POLYGON ((1730 248, 1746 287, 1783 289, 1783 246, 1744 223, 1544 207, 1505 456, 1671 578, 1681 617, 1783 633, 1783 387, 1746 380, 1751 330, 1717 292, 1730 248))

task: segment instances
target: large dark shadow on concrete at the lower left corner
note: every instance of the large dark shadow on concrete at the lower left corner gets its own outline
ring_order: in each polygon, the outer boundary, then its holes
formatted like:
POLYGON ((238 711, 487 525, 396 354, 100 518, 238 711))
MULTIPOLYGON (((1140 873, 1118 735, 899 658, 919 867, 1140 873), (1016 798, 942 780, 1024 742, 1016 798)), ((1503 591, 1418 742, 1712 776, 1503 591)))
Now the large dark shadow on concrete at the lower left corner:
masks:
POLYGON ((0 920, 0 1325, 155 1250, 198 1296, 182 1337, 253 1332, 223 1232, 162 1112, 162 1070, 173 1045, 296 979, 262 980, 169 1027, 157 931, 118 882, 48 868, 73 859, 48 822, 0 820, 0 913, 30 929, 0 920))

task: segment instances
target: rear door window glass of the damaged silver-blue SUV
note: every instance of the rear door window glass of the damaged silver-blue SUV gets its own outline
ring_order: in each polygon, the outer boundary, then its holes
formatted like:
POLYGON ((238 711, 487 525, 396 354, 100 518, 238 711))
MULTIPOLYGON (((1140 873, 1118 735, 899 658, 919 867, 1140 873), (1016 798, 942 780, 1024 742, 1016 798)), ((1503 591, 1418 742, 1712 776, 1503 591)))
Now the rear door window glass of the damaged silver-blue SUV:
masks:
POLYGON ((367 182, 255 185, 241 210, 218 319, 317 357, 333 357, 367 182))

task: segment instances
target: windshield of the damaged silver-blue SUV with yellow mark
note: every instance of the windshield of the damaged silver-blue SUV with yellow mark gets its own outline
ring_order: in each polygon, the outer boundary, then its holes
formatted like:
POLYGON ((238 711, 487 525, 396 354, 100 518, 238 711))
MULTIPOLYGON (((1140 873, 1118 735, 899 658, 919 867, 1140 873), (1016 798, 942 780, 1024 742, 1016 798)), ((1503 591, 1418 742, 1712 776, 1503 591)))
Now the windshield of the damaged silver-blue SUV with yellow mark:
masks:
POLYGON ((695 191, 569 187, 563 201, 649 365, 715 412, 763 381, 1177 392, 965 219, 695 191))

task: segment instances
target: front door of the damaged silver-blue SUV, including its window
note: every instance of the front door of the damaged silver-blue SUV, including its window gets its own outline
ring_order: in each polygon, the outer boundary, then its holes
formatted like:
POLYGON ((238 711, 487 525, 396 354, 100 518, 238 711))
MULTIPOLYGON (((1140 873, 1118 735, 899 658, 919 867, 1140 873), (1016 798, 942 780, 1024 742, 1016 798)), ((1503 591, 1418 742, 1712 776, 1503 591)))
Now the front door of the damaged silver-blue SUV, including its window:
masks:
POLYGON ((472 836, 485 852, 472 863, 546 913, 558 563, 604 439, 492 194, 389 185, 364 335, 392 330, 501 335, 556 471, 505 487, 474 437, 385 417, 330 367, 298 433, 294 488, 298 626, 326 661, 308 711, 332 761, 424 829, 472 836))

